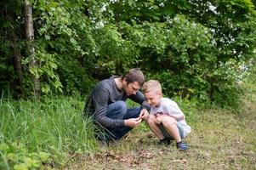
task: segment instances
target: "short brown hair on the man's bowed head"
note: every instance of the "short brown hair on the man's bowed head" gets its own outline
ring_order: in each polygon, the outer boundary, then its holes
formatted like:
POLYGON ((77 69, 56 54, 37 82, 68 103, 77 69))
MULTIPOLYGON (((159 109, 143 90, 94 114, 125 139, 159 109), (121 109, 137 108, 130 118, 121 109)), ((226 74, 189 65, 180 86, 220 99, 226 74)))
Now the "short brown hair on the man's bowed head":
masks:
POLYGON ((145 82, 145 77, 142 71, 137 68, 129 70, 124 76, 122 76, 122 80, 126 79, 127 83, 139 82, 139 86, 142 87, 145 82))

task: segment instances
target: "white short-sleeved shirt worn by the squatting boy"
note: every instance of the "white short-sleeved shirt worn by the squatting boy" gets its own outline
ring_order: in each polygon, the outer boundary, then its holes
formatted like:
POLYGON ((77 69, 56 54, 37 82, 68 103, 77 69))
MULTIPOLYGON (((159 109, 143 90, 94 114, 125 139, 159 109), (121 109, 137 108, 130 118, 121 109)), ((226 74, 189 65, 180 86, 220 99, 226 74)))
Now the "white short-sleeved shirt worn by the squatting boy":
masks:
POLYGON ((151 106, 150 114, 156 115, 156 113, 162 113, 163 115, 174 117, 183 125, 186 133, 191 133, 191 127, 185 122, 184 113, 172 99, 162 98, 160 99, 160 105, 158 107, 151 106))

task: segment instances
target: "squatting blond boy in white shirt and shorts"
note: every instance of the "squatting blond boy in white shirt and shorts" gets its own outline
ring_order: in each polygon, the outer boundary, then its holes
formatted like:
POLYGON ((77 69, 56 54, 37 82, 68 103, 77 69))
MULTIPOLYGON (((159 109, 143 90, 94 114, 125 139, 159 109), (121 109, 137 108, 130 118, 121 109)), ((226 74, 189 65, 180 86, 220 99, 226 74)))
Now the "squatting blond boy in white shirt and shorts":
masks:
POLYGON ((179 150, 187 150, 188 144, 182 142, 191 127, 185 122, 185 115, 171 99, 162 97, 161 84, 156 80, 145 82, 143 86, 146 101, 151 105, 148 116, 143 116, 151 131, 160 139, 160 144, 176 140, 179 150))

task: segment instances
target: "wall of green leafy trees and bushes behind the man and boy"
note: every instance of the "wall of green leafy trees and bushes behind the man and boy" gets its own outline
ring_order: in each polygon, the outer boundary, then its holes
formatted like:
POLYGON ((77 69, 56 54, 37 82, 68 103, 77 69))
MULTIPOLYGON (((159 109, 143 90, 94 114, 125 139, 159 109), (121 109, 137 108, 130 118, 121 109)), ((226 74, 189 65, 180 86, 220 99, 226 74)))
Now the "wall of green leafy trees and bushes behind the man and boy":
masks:
POLYGON ((255 57, 254 1, 35 0, 32 45, 38 66, 31 68, 21 29, 24 4, 15 2, 12 12, 13 3, 0 3, 5 8, 0 84, 14 94, 32 94, 31 75, 40 77, 43 94, 88 94, 100 79, 139 67, 147 79, 161 81, 170 97, 235 105, 236 82, 246 72, 238 68, 255 57), (14 32, 18 42, 5 32, 14 32), (10 64, 17 51, 23 59, 21 84, 10 64))

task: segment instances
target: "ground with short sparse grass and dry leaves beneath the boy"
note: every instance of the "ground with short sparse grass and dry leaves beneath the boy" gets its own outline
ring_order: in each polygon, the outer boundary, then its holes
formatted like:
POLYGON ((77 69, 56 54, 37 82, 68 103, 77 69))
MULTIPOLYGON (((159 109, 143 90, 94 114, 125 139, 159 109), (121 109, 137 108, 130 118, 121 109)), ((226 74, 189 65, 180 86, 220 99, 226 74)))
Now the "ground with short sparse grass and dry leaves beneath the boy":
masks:
POLYGON ((119 143, 99 143, 94 154, 72 156, 64 169, 256 169, 256 93, 247 94, 243 104, 239 114, 208 110, 191 117, 188 151, 174 143, 157 145, 139 127, 119 143))

